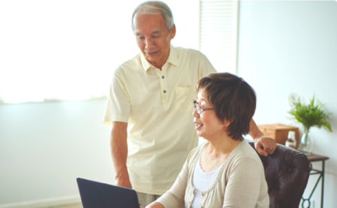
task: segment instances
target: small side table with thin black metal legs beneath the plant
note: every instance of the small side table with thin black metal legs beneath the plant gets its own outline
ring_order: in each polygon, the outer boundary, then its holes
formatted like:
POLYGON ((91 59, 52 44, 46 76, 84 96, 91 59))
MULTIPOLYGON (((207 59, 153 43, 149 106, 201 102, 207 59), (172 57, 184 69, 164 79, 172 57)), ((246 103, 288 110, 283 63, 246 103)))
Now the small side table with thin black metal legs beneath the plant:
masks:
POLYGON ((312 198, 312 194, 314 193, 318 182, 320 180, 320 178, 322 178, 322 190, 320 191, 320 208, 323 208, 323 196, 324 196, 324 174, 325 174, 325 160, 329 160, 329 158, 327 156, 321 156, 321 155, 317 155, 317 154, 311 154, 311 155, 307 155, 307 160, 309 161, 309 165, 310 165, 310 175, 316 175, 318 174, 319 177, 316 181, 316 184, 314 186, 314 189, 312 189, 312 193, 309 195, 309 198, 303 198, 302 196, 302 207, 304 208, 304 203, 305 201, 308 202, 308 206, 307 208, 310 207, 310 198, 312 198), (318 169, 313 169, 312 168, 312 162, 322 162, 322 169, 318 170, 318 169))

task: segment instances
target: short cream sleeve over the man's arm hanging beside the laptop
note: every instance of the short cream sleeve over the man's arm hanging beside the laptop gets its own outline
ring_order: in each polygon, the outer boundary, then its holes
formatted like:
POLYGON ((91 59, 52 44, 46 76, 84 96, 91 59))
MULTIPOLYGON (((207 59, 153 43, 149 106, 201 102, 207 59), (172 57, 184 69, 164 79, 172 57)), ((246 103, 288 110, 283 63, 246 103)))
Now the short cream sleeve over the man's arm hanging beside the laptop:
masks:
MULTIPOLYGON (((120 69, 119 69, 120 70, 120 69)), ((107 105, 103 123, 112 125, 113 121, 127 123, 131 111, 130 96, 127 93, 126 81, 120 75, 119 70, 113 73, 107 96, 107 105)))

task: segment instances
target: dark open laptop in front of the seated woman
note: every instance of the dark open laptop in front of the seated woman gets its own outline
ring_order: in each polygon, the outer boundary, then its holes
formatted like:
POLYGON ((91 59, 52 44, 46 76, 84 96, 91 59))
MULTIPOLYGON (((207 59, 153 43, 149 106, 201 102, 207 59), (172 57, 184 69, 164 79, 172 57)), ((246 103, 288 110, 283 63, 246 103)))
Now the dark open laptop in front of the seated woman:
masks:
POLYGON ((140 208, 135 190, 77 178, 83 208, 140 208))

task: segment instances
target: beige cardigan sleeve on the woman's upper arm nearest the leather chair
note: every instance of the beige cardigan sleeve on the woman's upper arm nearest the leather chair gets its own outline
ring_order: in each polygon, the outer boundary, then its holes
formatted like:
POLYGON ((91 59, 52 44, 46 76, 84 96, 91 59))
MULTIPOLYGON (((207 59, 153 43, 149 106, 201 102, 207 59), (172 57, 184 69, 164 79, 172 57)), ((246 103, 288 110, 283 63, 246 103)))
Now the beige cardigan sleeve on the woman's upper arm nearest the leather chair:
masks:
POLYGON ((264 176, 256 160, 243 157, 237 160, 228 175, 223 208, 254 208, 264 176))

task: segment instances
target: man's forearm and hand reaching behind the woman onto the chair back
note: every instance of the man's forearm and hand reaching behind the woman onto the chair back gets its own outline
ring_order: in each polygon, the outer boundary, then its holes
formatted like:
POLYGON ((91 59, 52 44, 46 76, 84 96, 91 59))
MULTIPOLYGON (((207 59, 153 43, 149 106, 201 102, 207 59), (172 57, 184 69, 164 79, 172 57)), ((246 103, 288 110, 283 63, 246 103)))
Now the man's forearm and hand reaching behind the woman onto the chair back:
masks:
POLYGON ((250 136, 252 136, 255 149, 257 149, 257 152, 263 156, 268 156, 268 154, 273 154, 276 149, 276 141, 274 138, 270 138, 268 136, 264 136, 262 132, 260 131, 259 127, 257 127, 257 124, 254 122, 254 120, 250 121, 250 136))

